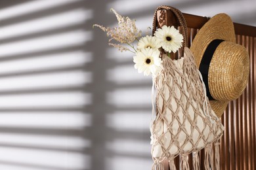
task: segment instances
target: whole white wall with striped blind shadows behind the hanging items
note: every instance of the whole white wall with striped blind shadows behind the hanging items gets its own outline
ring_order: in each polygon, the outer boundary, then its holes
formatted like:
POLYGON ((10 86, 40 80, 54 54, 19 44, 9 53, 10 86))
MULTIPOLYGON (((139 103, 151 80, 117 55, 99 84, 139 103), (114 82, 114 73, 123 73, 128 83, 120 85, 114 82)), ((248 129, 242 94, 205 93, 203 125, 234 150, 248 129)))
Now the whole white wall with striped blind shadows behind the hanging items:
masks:
POLYGON ((146 31, 159 5, 256 25, 255 0, 0 3, 0 169, 150 169, 150 76, 93 24, 146 31))

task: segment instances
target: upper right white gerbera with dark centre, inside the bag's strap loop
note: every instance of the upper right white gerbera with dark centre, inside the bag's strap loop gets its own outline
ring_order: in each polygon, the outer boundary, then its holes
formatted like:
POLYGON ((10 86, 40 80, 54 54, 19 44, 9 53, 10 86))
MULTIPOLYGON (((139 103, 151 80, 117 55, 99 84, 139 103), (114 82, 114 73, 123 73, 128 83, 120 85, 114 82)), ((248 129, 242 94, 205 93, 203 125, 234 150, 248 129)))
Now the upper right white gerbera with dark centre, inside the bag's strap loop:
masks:
POLYGON ((160 40, 161 47, 166 52, 177 52, 182 46, 183 36, 175 27, 163 27, 158 28, 154 35, 160 40))

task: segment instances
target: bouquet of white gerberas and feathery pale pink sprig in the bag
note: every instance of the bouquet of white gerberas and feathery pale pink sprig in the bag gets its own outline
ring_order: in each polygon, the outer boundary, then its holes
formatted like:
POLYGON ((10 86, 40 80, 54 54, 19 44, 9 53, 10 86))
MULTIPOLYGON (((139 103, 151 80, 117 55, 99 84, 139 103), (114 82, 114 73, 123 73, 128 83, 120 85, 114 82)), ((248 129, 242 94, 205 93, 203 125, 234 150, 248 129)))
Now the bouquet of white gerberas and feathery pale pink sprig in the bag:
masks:
POLYGON ((158 28, 154 36, 146 35, 141 37, 142 31, 135 25, 135 20, 129 17, 119 15, 116 10, 111 9, 118 21, 118 27, 110 28, 95 24, 93 27, 99 27, 105 31, 109 39, 109 45, 118 48, 119 51, 133 52, 133 61, 135 69, 145 76, 152 74, 153 77, 158 75, 163 69, 160 58, 160 50, 163 49, 168 55, 171 52, 177 52, 182 46, 183 36, 175 27, 164 25, 158 28), (113 43, 112 41, 116 41, 113 43), (135 42, 137 41, 137 46, 135 42))

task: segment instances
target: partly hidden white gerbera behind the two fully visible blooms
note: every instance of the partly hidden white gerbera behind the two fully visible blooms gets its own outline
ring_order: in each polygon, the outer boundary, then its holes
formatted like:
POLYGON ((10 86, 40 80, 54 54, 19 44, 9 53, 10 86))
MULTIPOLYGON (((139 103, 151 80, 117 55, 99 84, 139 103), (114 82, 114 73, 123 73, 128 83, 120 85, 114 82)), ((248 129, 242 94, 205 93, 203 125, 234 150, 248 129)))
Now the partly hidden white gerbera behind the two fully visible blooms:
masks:
POLYGON ((151 35, 146 37, 142 37, 138 44, 137 48, 138 50, 141 50, 143 48, 160 48, 161 45, 159 43, 159 40, 156 37, 152 37, 151 35))

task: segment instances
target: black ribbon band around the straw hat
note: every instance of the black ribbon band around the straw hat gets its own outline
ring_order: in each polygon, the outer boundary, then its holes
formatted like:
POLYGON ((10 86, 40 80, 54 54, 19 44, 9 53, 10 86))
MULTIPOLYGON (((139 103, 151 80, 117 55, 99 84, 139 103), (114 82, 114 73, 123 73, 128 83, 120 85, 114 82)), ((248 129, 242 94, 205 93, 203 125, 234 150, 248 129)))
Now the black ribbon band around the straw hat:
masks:
POLYGON ((221 44, 221 42, 223 41, 224 40, 221 40, 221 39, 215 39, 209 43, 209 45, 207 46, 203 54, 203 58, 201 60, 200 67, 199 67, 199 71, 202 74, 203 82, 206 88, 206 94, 209 100, 215 100, 209 90, 209 82, 208 82, 209 67, 210 67, 211 59, 213 58, 213 54, 215 50, 217 49, 219 44, 221 44))

